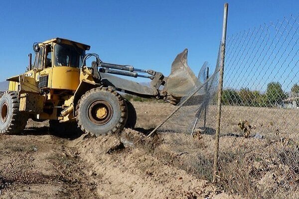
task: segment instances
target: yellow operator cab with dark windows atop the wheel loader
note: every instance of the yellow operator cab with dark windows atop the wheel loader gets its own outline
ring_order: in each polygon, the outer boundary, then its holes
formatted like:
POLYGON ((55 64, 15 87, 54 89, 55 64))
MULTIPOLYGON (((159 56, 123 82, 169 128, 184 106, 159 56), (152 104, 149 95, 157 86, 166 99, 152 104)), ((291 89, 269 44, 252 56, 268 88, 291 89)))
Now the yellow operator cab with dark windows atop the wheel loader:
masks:
POLYGON ((76 91, 80 67, 89 49, 88 45, 61 38, 35 43, 32 69, 39 89, 76 91))

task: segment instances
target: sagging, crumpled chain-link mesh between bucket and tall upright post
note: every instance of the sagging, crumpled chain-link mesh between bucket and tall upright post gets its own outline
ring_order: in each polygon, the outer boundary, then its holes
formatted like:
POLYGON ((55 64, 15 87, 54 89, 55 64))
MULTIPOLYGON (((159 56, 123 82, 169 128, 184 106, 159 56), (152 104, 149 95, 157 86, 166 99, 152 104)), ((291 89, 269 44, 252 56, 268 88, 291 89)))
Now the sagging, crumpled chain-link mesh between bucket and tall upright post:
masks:
POLYGON ((213 177, 216 128, 216 113, 209 109, 209 104, 215 103, 218 80, 219 59, 214 70, 205 62, 196 86, 180 100, 171 117, 164 120, 156 131, 162 137, 162 143, 155 152, 165 164, 209 181, 213 177))

